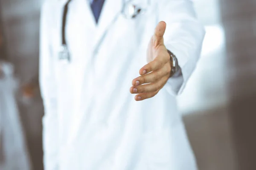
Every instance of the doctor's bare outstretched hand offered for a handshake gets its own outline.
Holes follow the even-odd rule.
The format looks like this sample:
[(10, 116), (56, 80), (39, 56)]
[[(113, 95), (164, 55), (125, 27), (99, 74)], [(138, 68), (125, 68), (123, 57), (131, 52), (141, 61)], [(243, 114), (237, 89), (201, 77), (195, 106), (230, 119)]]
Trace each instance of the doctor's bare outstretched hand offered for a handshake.
[(140, 77), (133, 79), (131, 94), (137, 94), (135, 100), (140, 101), (155, 96), (166, 84), (171, 75), (170, 55), (163, 43), (166, 23), (157, 24), (154, 35), (148, 44), (147, 61), (139, 73)]

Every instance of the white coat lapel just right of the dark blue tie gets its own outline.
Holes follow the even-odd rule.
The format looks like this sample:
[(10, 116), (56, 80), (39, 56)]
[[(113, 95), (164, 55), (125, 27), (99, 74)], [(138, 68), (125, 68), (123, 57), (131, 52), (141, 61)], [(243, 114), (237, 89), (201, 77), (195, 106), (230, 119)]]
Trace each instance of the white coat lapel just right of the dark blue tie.
[(124, 0), (105, 0), (103, 5), (97, 28), (96, 39), (94, 42), (95, 49), (98, 49), (103, 41), (105, 34), (107, 34), (109, 28), (117, 17), (121, 14)]

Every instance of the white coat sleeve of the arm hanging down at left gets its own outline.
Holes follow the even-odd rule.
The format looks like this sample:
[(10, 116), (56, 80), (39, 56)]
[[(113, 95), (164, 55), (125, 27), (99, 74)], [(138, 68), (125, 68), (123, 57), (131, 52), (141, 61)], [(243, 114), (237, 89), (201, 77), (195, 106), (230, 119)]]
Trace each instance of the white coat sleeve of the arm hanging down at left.
[(49, 3), (44, 3), (41, 10), (39, 59), (39, 81), (44, 102), (44, 117), (42, 120), (44, 169), (58, 170), (58, 116), (54, 62), (49, 40), (49, 26), (51, 23), (49, 14)]

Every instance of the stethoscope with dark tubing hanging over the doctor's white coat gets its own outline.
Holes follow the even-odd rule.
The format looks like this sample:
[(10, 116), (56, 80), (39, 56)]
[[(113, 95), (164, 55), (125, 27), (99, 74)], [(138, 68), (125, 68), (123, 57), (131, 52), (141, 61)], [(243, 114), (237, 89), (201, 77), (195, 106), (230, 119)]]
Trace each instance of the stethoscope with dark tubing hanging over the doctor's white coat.
[[(58, 59), (65, 63), (70, 63), (70, 53), (67, 48), (67, 41), (66, 41), (66, 22), (67, 22), (67, 12), (68, 12), (68, 5), (71, 0), (68, 0), (64, 6), (63, 10), (63, 17), (62, 17), (62, 26), (61, 26), (61, 49), (59, 51)], [(141, 8), (140, 6), (136, 6), (132, 3), (133, 0), (128, 0), (127, 2), (123, 0), (123, 8), (121, 14), (126, 19), (133, 19), (136, 18), (139, 14), (142, 14), (146, 11), (147, 6), (150, 5), (151, 0), (147, 0), (147, 6), (145, 8)]]

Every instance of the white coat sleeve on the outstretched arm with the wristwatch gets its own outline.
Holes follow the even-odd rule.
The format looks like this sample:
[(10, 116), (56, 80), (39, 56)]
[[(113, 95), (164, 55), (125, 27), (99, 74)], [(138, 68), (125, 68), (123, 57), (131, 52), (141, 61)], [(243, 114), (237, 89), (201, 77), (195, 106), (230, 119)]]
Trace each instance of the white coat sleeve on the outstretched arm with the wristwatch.
[(171, 77), (166, 88), (173, 95), (181, 94), (201, 54), (204, 27), (195, 16), (191, 0), (157, 0), (158, 21), (166, 22), (164, 44), (177, 57), (181, 75)]

